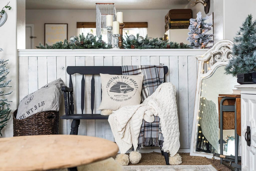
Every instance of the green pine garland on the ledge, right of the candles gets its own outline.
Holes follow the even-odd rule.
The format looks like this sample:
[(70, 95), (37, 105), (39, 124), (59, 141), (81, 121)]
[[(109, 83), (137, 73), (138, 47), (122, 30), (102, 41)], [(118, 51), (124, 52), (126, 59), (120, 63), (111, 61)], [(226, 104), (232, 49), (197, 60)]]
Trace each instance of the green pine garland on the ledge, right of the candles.
[(189, 45), (177, 42), (168, 42), (168, 40), (159, 40), (158, 38), (149, 39), (146, 35), (143, 40), (138, 41), (141, 36), (136, 35), (135, 39), (129, 39), (129, 36), (126, 33), (126, 36), (123, 38), (123, 48), (124, 49), (189, 49)]

